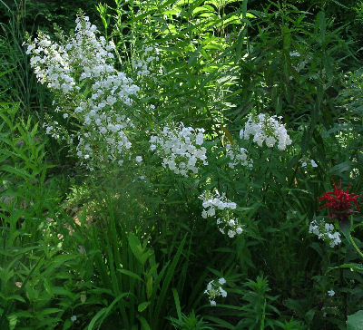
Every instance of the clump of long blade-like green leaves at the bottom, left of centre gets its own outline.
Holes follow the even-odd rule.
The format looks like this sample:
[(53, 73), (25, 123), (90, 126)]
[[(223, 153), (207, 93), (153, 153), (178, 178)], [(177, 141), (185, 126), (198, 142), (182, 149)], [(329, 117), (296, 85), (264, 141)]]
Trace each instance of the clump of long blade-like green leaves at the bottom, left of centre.
[(106, 297), (103, 308), (93, 315), (87, 328), (110, 326), (113, 322), (124, 329), (138, 325), (144, 329), (164, 328), (164, 317), (168, 315), (165, 306), (172, 298), (186, 237), (171, 259), (160, 265), (147, 238), (142, 242), (132, 232), (126, 232), (122, 219), (114, 216), (110, 199), (107, 206), (109, 214), (103, 226), (95, 224), (91, 237), (83, 240), (83, 247), (92, 256), (86, 266), (94, 274), (89, 292), (104, 293)]

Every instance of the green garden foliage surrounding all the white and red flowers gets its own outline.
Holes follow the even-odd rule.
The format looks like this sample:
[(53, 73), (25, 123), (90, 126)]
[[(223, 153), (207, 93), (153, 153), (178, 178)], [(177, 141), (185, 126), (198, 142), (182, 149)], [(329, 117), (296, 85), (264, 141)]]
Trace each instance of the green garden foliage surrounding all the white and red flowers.
[[(267, 112), (283, 116), (294, 149), (255, 150), (250, 171), (216, 158), (185, 180), (162, 170), (145, 140), (140, 169), (79, 168), (42, 130), (53, 95), (35, 81), (22, 46), (25, 31), (52, 32), (56, 23), (68, 32), (79, 7), (113, 38), (130, 76), (132, 58), (160, 48), (156, 79), (134, 78), (138, 104), (155, 105), (146, 123), (203, 127), (218, 154), (239, 141), (250, 111)], [(318, 199), (331, 179), (363, 188), (363, 3), (2, 1), (0, 10), (1, 71), (11, 70), (0, 77), (2, 328), (343, 329), (359, 316), (356, 249), (329, 248), (309, 235), (309, 221), (323, 214)], [(303, 169), (301, 158), (319, 167)], [(243, 238), (225, 238), (201, 218), (198, 196), (213, 188), (241, 207)], [(360, 221), (355, 214), (358, 248)], [(218, 277), (228, 298), (211, 308), (203, 291)], [(336, 296), (327, 295), (332, 287)]]

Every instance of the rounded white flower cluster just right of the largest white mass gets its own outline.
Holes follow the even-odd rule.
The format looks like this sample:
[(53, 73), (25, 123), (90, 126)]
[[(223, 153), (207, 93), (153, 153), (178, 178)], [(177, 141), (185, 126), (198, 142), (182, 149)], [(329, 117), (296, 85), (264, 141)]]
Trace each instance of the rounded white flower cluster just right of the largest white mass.
[(182, 122), (175, 127), (165, 126), (158, 135), (152, 135), (150, 150), (162, 155), (162, 167), (169, 167), (176, 174), (187, 177), (198, 173), (198, 164), (208, 165), (204, 142), (204, 129), (185, 127)]

